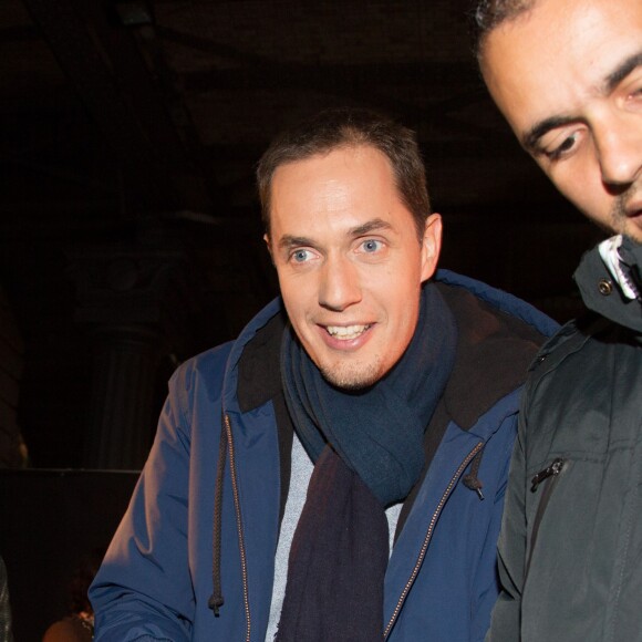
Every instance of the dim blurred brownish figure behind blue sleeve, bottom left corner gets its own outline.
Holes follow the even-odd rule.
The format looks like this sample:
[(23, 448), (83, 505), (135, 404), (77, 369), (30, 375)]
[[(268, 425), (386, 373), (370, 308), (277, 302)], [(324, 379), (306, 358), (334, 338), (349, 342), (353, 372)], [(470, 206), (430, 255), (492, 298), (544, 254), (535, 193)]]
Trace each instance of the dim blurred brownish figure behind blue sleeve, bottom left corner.
[(54, 622), (44, 633), (42, 642), (90, 642), (94, 636), (94, 611), (87, 589), (101, 566), (105, 549), (94, 549), (85, 555), (71, 577), (69, 584), (69, 615)]

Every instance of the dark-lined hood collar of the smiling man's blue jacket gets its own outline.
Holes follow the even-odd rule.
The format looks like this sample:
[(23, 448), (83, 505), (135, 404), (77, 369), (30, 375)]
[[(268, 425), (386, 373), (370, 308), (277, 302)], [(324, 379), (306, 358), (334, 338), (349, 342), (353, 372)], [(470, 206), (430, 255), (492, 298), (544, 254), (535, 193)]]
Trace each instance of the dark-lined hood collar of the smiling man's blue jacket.
[[(469, 429), (499, 398), (519, 386), (534, 352), (558, 325), (519, 299), (485, 283), (439, 270), (435, 279), (459, 330), (456, 364), (444, 393), (452, 420)], [(230, 354), (235, 407), (245, 413), (281, 397), (279, 353), (287, 318), (273, 301), (248, 324)], [(486, 384), (470, 390), (470, 381)], [(228, 381), (229, 383), (229, 381)], [(474, 390), (477, 390), (474, 389)]]

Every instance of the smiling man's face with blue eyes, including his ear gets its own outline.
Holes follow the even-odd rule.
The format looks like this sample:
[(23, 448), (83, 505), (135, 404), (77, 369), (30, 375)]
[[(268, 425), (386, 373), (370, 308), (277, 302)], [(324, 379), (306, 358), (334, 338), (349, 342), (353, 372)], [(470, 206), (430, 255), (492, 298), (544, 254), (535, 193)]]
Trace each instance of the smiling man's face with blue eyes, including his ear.
[(329, 382), (365, 387), (400, 360), (441, 232), (436, 214), (421, 231), (412, 225), (374, 147), (338, 148), (275, 172), (266, 240), (288, 318)]

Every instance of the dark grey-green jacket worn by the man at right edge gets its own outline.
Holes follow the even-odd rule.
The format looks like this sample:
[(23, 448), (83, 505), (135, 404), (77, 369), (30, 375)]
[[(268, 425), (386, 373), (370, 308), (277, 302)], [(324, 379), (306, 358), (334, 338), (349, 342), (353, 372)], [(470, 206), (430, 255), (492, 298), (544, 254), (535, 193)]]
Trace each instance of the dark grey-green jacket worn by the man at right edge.
[(591, 312), (545, 344), (522, 396), (487, 642), (642, 641), (642, 302), (597, 248), (576, 280)]

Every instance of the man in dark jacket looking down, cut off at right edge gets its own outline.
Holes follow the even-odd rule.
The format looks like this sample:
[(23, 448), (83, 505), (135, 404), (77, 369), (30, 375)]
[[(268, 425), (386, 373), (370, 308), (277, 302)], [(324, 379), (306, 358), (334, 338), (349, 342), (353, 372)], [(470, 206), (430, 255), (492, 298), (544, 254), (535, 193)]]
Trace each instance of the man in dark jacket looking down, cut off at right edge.
[(486, 0), (478, 60), (524, 148), (615, 236), (524, 396), (489, 639), (642, 640), (642, 2)]

